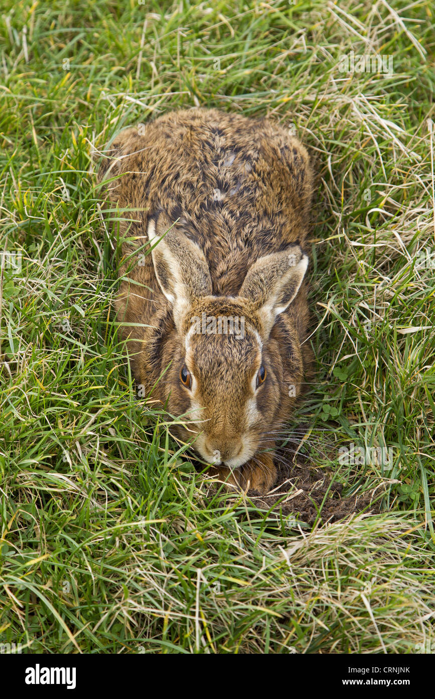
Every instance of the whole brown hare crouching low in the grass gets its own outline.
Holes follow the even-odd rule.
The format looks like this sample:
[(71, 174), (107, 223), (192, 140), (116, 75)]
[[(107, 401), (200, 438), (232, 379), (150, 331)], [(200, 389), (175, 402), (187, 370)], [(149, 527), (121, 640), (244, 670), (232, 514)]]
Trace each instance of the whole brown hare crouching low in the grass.
[(307, 151), (267, 120), (193, 108), (122, 131), (98, 180), (124, 210), (115, 309), (135, 381), (221, 477), (267, 492), (311, 366)]

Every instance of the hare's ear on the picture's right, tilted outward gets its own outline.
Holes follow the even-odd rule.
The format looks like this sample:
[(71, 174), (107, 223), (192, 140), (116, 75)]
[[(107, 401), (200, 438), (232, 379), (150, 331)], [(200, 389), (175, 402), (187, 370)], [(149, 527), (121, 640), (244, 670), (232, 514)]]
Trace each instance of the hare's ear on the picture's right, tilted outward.
[(307, 255), (299, 245), (292, 245), (282, 252), (260, 257), (246, 274), (239, 296), (258, 311), (264, 338), (269, 336), (277, 315), (295, 298), (307, 266)]

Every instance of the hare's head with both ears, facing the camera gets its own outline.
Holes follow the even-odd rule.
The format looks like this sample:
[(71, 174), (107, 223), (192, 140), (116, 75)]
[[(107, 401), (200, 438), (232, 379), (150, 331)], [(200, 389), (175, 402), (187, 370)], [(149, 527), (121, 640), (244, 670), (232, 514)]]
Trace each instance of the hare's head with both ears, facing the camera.
[(151, 217), (148, 238), (168, 301), (153, 345), (155, 363), (169, 365), (158, 393), (172, 415), (184, 416), (182, 437), (195, 438), (207, 463), (237, 468), (288, 417), (297, 396), (300, 340), (281, 314), (300, 289), (308, 257), (299, 245), (267, 254), (249, 268), (238, 296), (214, 296), (205, 255), (182, 224)]

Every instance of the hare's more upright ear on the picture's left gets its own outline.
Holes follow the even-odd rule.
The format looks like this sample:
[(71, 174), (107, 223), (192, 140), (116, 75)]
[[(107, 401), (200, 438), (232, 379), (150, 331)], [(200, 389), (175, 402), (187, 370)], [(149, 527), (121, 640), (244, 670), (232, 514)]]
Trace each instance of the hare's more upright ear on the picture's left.
[(161, 291), (173, 307), (175, 326), (181, 327), (189, 305), (212, 294), (212, 279), (205, 256), (165, 214), (149, 218), (154, 272)]

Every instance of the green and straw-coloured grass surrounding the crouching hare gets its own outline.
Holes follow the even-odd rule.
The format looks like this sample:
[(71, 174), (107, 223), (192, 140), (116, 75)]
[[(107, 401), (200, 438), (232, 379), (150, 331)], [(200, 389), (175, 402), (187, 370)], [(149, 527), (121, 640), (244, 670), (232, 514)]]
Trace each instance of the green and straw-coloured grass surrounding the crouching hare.
[[(433, 12), (3, 0), (0, 643), (434, 652)], [(361, 55), (382, 70), (352, 71)], [(295, 526), (212, 494), (135, 398), (95, 171), (121, 128), (198, 105), (287, 124), (313, 157), (317, 376), (297, 419), (316, 466), (344, 495), (376, 489), (377, 514)], [(391, 459), (341, 463), (352, 444)]]

